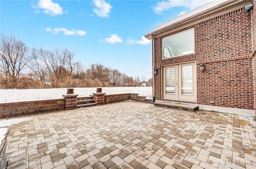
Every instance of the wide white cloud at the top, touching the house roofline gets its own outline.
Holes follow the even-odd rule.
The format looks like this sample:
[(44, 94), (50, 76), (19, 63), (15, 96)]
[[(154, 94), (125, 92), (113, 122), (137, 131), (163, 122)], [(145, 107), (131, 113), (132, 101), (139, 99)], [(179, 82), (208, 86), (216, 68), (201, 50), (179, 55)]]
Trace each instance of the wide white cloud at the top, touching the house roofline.
[(170, 10), (174, 7), (185, 7), (190, 10), (194, 10), (212, 1), (213, 0), (166, 0), (157, 2), (152, 9), (156, 14), (163, 14), (164, 11)]

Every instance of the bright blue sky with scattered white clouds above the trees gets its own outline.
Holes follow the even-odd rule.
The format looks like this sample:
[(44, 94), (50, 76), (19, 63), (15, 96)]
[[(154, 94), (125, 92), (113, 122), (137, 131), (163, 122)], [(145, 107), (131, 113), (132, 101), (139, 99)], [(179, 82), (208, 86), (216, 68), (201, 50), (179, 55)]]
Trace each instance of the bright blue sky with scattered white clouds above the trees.
[(160, 24), (212, 0), (0, 0), (0, 32), (28, 47), (64, 49), (132, 77), (152, 77), (152, 42)]

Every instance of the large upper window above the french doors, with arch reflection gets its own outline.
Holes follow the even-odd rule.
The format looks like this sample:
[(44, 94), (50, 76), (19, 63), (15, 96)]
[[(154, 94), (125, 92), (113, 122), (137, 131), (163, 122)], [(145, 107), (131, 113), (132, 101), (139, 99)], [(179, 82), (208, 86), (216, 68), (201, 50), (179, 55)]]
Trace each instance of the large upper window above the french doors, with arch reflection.
[(163, 59), (194, 53), (194, 29), (166, 37), (162, 44)]

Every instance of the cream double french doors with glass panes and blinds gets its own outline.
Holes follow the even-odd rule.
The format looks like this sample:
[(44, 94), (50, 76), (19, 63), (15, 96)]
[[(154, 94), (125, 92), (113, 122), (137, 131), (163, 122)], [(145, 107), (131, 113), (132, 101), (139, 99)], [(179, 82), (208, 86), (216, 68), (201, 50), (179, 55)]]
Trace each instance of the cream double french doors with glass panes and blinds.
[(163, 98), (196, 101), (196, 63), (163, 67)]

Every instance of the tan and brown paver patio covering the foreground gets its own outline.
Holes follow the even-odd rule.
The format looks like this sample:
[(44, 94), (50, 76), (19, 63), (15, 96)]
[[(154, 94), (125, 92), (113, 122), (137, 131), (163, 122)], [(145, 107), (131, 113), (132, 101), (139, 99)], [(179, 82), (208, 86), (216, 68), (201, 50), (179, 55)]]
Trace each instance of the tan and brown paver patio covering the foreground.
[(255, 169), (245, 116), (120, 102), (10, 127), (8, 169)]

